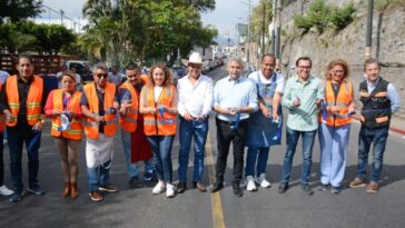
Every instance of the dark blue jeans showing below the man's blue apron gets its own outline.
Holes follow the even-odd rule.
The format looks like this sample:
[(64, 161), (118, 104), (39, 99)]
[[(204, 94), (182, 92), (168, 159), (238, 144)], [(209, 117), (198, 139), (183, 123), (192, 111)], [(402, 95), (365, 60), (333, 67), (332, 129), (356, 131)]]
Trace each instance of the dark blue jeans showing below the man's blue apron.
[(245, 168), (246, 176), (255, 176), (256, 160), (256, 176), (259, 177), (261, 174), (266, 174), (269, 151), (269, 147), (249, 147), (247, 149)]

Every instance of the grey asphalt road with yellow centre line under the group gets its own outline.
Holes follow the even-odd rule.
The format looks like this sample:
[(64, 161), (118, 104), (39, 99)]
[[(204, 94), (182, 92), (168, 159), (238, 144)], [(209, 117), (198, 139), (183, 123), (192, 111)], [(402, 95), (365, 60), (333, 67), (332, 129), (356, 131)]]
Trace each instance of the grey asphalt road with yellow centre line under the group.
[[(209, 75), (214, 79), (225, 76), (224, 68)], [(401, 127), (401, 126), (396, 126)], [(403, 126), (404, 127), (404, 126)], [(213, 181), (213, 163), (216, 160), (216, 127), (210, 119), (207, 143), (205, 182)], [(346, 184), (354, 178), (357, 165), (357, 136), (359, 125), (353, 123), (349, 143)], [(294, 160), (290, 189), (277, 194), (285, 152), (285, 136), (281, 146), (274, 147), (267, 166), (267, 176), (273, 186), (256, 192), (234, 196), (231, 181), (231, 153), (226, 171), (226, 187), (220, 194), (198, 192), (189, 189), (176, 198), (152, 196), (151, 188), (130, 189), (127, 184), (124, 151), (120, 137), (116, 137), (111, 182), (119, 187), (118, 194), (106, 195), (102, 202), (88, 197), (88, 178), (85, 152), (80, 156), (79, 190), (76, 200), (61, 197), (63, 186), (59, 155), (49, 136), (49, 123), (42, 135), (40, 149), (40, 185), (48, 191), (45, 196), (27, 195), (22, 201), (11, 204), (0, 197), (0, 228), (13, 227), (139, 227), (139, 228), (205, 228), (205, 227), (405, 227), (405, 138), (391, 133), (387, 142), (382, 188), (378, 194), (367, 194), (364, 188), (343, 189), (340, 195), (315, 190), (306, 196), (299, 187), (302, 153), (299, 147)], [(83, 146), (83, 143), (82, 143)], [(174, 178), (177, 180), (178, 138), (172, 148)], [(9, 156), (4, 151), (6, 184), (10, 187)], [(211, 156), (213, 155), (213, 156)], [(192, 156), (190, 156), (192, 159)], [(27, 180), (26, 156), (23, 179)], [(213, 162), (214, 161), (214, 162)], [(312, 186), (319, 185), (319, 147), (316, 142), (313, 155)], [(192, 162), (189, 163), (192, 167)], [(189, 187), (191, 169), (189, 169)]]

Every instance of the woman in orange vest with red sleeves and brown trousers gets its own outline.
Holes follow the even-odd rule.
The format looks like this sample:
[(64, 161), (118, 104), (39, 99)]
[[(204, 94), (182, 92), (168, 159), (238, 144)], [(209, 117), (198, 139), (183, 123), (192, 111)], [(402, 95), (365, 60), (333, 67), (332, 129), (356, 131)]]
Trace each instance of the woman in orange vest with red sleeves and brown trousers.
[(76, 75), (62, 72), (61, 89), (52, 90), (45, 112), (52, 118), (51, 136), (62, 158), (65, 188), (62, 196), (75, 199), (78, 196), (78, 157), (81, 145), (81, 92), (76, 90)]

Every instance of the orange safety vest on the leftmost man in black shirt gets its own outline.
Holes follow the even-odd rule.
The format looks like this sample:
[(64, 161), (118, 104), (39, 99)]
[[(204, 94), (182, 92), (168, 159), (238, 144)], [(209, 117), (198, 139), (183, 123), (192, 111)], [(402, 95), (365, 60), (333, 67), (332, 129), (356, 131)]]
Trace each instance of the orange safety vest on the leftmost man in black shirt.
[[(18, 93), (17, 79), (18, 76), (11, 76), (6, 81), (7, 101), (10, 107), (10, 112), (14, 117), (18, 117), (18, 112), (20, 111), (20, 98)], [(39, 76), (33, 76), (27, 97), (27, 120), (28, 125), (30, 126), (36, 125), (37, 121), (41, 119), (42, 93), (43, 93), (43, 80)], [(17, 126), (17, 120), (13, 122), (7, 122), (7, 126), (9, 127)]]

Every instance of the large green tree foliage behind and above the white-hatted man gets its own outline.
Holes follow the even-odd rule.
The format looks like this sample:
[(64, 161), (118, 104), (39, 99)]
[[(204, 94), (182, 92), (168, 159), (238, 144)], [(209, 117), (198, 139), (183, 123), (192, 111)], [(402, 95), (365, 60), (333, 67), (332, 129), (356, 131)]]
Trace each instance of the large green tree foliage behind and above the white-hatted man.
[(89, 0), (83, 14), (90, 23), (79, 43), (113, 65), (167, 56), (172, 62), (177, 49), (186, 56), (194, 44), (211, 43), (217, 31), (202, 27), (199, 13), (214, 7), (214, 0)]

